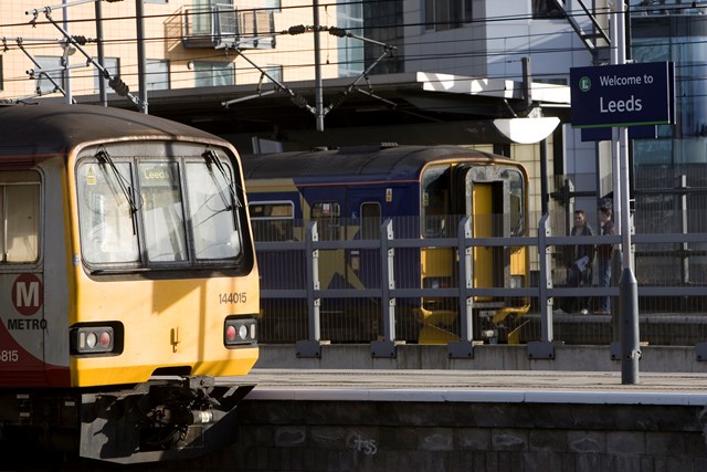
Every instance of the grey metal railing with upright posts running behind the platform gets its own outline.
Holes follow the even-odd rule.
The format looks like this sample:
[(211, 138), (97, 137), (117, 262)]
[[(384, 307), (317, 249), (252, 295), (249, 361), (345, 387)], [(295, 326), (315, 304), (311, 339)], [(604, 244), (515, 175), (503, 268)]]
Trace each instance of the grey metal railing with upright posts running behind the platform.
[[(345, 221), (334, 227), (329, 223), (328, 233), (321, 239), (315, 223), (302, 228), (300, 234), (295, 234), (291, 228), (288, 238), (298, 240), (268, 241), (270, 238), (261, 233), (256, 242), (265, 307), (261, 340), (295, 342), (303, 357), (318, 356), (319, 346), (326, 342), (370, 342), (374, 357), (390, 357), (394, 356), (395, 344), (410, 339), (405, 332), (418, 323), (410, 306), (419, 304), (421, 298), (433, 297), (443, 304), (443, 312), (452, 313), (452, 319), (444, 327), (454, 337), (446, 342), (450, 356), (468, 357), (474, 346), (483, 342), (479, 317), (484, 306), (477, 301), (497, 297), (531, 301), (528, 313), (511, 321), (518, 328), (519, 342), (528, 345), (532, 358), (552, 358), (556, 342), (615, 343), (620, 329), (616, 301), (620, 289), (615, 281), (621, 273), (621, 259), (614, 256), (612, 286), (599, 287), (594, 282), (591, 286), (566, 287), (562, 286), (567, 270), (563, 249), (574, 244), (620, 245), (621, 237), (552, 235), (548, 221), (547, 217), (540, 219), (535, 235), (507, 238), (472, 238), (468, 219), (460, 222), (455, 235), (444, 238), (420, 238), (419, 231), (410, 229), (419, 228), (419, 220), (414, 219), (408, 224), (387, 220), (380, 231), (369, 231), (362, 238), (359, 233), (358, 239), (342, 237), (346, 231), (341, 228), (349, 227)], [(360, 225), (360, 221), (350, 225), (354, 224)], [(293, 227), (297, 228), (297, 224)], [(393, 231), (393, 228), (399, 230)], [(331, 237), (334, 231), (338, 237)], [(704, 250), (707, 234), (634, 234), (633, 242), (641, 340), (655, 345), (696, 346), (698, 357), (707, 358), (704, 344), (707, 338), (707, 253)], [(526, 286), (473, 286), (474, 248), (509, 250), (521, 247), (528, 248), (530, 254), (531, 276)], [(454, 249), (457, 256), (451, 284), (421, 287), (420, 279), (415, 283), (415, 277), (409, 276), (415, 271), (419, 273), (419, 269), (405, 266), (412, 259), (402, 254), (422, 248)], [(659, 248), (659, 251), (650, 248)], [(354, 265), (370, 273), (349, 274), (348, 279), (346, 274), (337, 275), (331, 269), (331, 259), (347, 263), (367, 260), (367, 266), (362, 263)], [(351, 268), (347, 270), (351, 271)], [(685, 276), (686, 272), (688, 276)], [(347, 280), (337, 282), (337, 276)], [(363, 284), (362, 280), (373, 282)], [(595, 301), (601, 296), (612, 297), (612, 313), (553, 314), (559, 298), (591, 297)], [(275, 332), (268, 326), (268, 310), (273, 306), (284, 313), (279, 323), (291, 324), (284, 337), (282, 325), (279, 337), (274, 336)], [(365, 333), (363, 339), (361, 333)], [(486, 343), (494, 340), (493, 337), (485, 339)]]

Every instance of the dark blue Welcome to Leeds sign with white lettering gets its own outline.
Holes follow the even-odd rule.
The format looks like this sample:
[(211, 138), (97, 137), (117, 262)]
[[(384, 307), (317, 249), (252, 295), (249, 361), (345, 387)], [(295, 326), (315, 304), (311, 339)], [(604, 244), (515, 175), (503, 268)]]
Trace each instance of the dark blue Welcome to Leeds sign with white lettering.
[(667, 125), (675, 107), (672, 62), (570, 69), (572, 126)]

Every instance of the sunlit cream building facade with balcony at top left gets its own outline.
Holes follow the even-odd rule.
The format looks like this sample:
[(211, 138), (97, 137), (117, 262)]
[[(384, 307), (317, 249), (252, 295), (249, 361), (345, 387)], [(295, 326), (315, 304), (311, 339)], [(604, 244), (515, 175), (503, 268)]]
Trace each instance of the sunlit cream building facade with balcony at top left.
[[(3, 4), (2, 99), (65, 95), (68, 101), (98, 94), (99, 77), (106, 73), (95, 63), (119, 77), (131, 94), (140, 86), (140, 73), (149, 92), (314, 77), (313, 35), (283, 34), (291, 27), (312, 24), (312, 3), (105, 0), (42, 4), (32, 0)], [(334, 8), (320, 9), (323, 20), (336, 14)], [(65, 33), (78, 43), (72, 44)], [(323, 42), (324, 77), (339, 74), (339, 45), (335, 38)], [(116, 93), (108, 78), (105, 83), (108, 93)]]

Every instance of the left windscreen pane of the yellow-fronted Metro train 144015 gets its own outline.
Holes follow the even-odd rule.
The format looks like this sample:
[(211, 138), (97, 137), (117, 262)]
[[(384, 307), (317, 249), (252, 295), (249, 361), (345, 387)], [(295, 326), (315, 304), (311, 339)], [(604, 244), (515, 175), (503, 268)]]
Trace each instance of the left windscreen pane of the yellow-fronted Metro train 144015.
[(88, 263), (139, 261), (133, 202), (125, 193), (133, 187), (130, 169), (129, 162), (115, 162), (113, 168), (96, 160), (76, 169), (81, 248)]

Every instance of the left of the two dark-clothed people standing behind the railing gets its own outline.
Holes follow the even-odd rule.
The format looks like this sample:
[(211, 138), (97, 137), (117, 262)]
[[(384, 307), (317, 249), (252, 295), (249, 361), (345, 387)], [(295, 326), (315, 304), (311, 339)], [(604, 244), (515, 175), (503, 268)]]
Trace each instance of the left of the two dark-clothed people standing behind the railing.
[[(583, 210), (574, 211), (574, 225), (570, 232), (573, 237), (594, 235), (592, 227), (587, 222)], [(574, 244), (571, 247), (569, 263), (569, 272), (567, 275), (568, 287), (591, 286), (592, 284), (592, 264), (594, 263), (594, 245), (593, 244)], [(591, 297), (579, 297), (580, 313), (588, 315), (591, 304)], [(563, 303), (555, 314), (572, 313), (574, 298)]]

